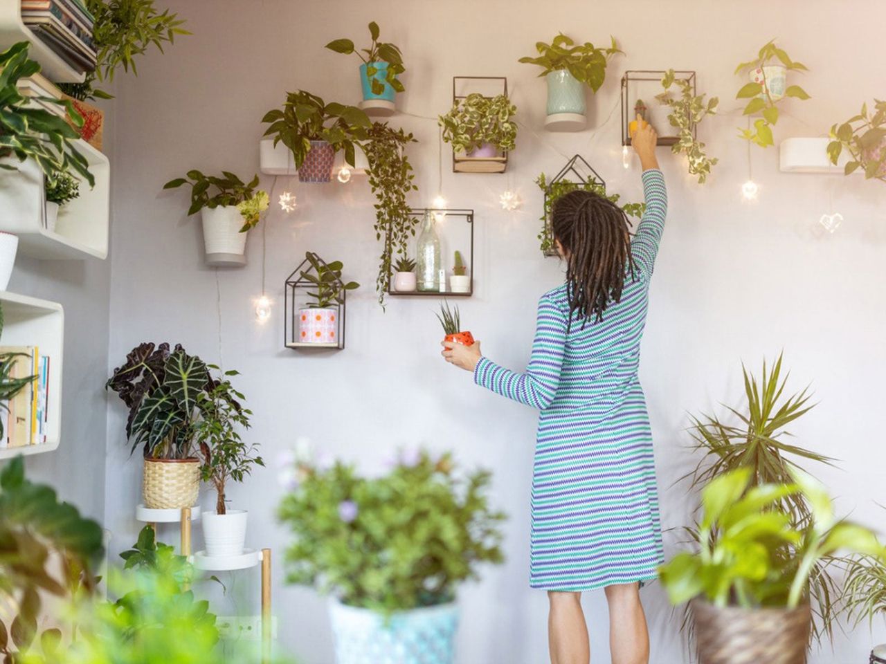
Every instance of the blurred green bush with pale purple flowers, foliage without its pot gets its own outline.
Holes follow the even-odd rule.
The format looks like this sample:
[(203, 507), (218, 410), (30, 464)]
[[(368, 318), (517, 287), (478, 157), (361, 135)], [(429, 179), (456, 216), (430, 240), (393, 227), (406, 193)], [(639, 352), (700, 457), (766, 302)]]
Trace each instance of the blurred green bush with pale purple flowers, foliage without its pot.
[(479, 563), (504, 560), (505, 515), (486, 499), (491, 475), (457, 474), (448, 453), (404, 453), (373, 478), (340, 461), (299, 460), (294, 470), (279, 509), (295, 536), (286, 551), (290, 583), (390, 614), (451, 601)]

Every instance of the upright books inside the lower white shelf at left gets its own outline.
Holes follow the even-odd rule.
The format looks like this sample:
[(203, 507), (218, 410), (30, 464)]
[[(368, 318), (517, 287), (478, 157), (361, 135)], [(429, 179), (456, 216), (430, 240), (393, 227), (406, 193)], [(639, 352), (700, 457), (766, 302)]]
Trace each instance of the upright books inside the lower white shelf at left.
[(4, 404), (5, 408), (0, 408), (0, 416), (5, 419), (0, 449), (43, 444), (48, 426), (50, 358), (41, 355), (37, 346), (0, 346), (0, 354), (16, 355), (10, 378), (35, 376)]

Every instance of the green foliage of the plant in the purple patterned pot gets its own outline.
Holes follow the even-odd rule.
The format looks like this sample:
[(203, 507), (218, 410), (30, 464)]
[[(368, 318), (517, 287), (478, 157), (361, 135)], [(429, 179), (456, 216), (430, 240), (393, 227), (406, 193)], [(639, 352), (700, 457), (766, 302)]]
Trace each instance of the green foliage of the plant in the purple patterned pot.
[(311, 151), (311, 141), (330, 143), (354, 166), (356, 142), (365, 140), (372, 126), (369, 116), (356, 106), (326, 104), (305, 90), (287, 93), (283, 108), (268, 111), (261, 121), (269, 125), (264, 135), (274, 136), (274, 145), (283, 143), (291, 150), (296, 168)]

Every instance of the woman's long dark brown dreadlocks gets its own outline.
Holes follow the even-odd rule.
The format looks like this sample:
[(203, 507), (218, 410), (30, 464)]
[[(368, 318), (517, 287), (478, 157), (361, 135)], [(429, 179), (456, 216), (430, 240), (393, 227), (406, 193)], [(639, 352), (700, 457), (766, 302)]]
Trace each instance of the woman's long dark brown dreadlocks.
[(558, 198), (551, 231), (563, 245), (569, 320), (578, 312), (585, 322), (602, 320), (610, 302), (618, 302), (626, 273), (634, 277), (630, 225), (625, 212), (593, 191), (571, 191)]

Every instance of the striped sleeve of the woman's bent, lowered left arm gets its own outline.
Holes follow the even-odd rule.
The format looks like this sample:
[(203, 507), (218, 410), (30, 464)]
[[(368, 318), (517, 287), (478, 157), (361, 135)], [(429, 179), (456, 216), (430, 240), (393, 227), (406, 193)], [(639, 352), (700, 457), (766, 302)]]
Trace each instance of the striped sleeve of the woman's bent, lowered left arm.
[(554, 400), (560, 384), (566, 345), (566, 316), (548, 296), (539, 300), (532, 357), (525, 374), (517, 374), (480, 358), (474, 368), (474, 382), (502, 397), (544, 410)]

